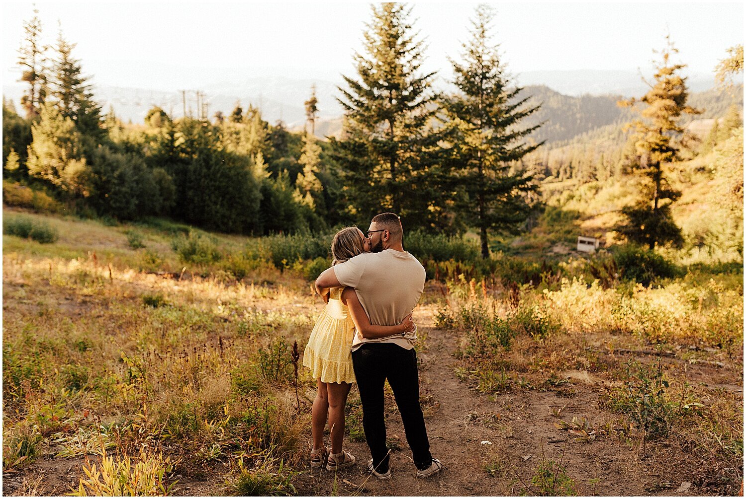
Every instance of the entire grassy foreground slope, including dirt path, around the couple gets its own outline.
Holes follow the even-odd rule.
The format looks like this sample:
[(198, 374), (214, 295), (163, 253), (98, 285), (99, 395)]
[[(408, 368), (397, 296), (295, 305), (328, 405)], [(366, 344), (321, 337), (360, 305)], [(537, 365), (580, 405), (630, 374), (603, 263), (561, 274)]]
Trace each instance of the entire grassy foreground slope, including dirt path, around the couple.
[[(476, 261), (442, 262), (415, 320), (421, 400), (449, 471), (409, 476), (387, 391), (397, 478), (372, 483), (363, 466), (339, 477), (307, 466), (315, 381), (294, 362), (323, 306), (308, 279), (325, 258), (275, 265), (272, 252), (301, 253), (287, 249), (295, 239), (164, 220), (4, 210), (6, 226), (18, 217), (57, 240), (3, 236), (4, 493), (121, 494), (118, 476), (145, 495), (442, 495), (442, 483), (460, 495), (557, 494), (542, 470), (560, 459), (561, 490), (581, 495), (665, 491), (682, 473), (696, 493), (733, 494), (742, 479), (741, 267), (693, 266), (644, 287), (608, 273), (586, 284), (603, 259), (498, 256), (474, 280)], [(536, 412), (554, 400), (554, 416)], [(499, 425), (480, 416), (495, 407)], [(347, 411), (345, 445), (364, 463), (355, 391)], [(547, 435), (568, 443), (544, 448)], [(639, 479), (614, 465), (589, 483), (601, 451)], [(94, 464), (101, 474), (88, 476)]]

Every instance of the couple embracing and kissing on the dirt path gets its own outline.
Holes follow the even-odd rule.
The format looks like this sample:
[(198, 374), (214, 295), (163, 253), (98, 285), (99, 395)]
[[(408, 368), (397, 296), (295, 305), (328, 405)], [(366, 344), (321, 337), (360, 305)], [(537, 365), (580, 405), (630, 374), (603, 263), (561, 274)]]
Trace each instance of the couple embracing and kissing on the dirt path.
[[(334, 471), (355, 464), (355, 457), (342, 450), (342, 439), (345, 402), (351, 384), (357, 382), (371, 452), (368, 470), (381, 480), (391, 477), (383, 420), (383, 384), (388, 380), (417, 477), (429, 477), (443, 465), (430, 454), (419, 403), (412, 311), (424, 289), (424, 268), (404, 251), (395, 214), (373, 217), (367, 236), (357, 227), (337, 232), (331, 244), (332, 267), (316, 279), (316, 291), (327, 305), (303, 360), (319, 387), (311, 411), (311, 467)], [(331, 448), (324, 443), (327, 419)]]

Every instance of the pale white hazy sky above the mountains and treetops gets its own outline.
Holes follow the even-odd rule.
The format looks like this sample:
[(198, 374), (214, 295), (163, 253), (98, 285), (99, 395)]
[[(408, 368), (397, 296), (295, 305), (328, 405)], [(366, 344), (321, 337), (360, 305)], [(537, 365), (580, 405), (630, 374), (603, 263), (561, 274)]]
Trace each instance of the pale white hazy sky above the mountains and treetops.
[[(185, 83), (164, 65), (254, 69), (264, 74), (338, 80), (353, 74), (369, 4), (211, 3), (198, 1), (37, 1), (44, 38), (57, 21), (94, 83), (172, 90)], [(513, 73), (558, 69), (649, 67), (666, 28), (689, 71), (711, 72), (726, 49), (743, 42), (742, 3), (497, 3), (495, 41)], [(425, 69), (451, 74), (468, 38), (475, 4), (413, 2), (415, 28), (426, 37)], [(17, 49), (30, 1), (2, 2), (3, 83), (19, 77)], [(163, 69), (159, 67), (163, 66)], [(171, 73), (175, 74), (175, 73)], [(170, 78), (170, 79), (169, 79)], [(172, 82), (170, 88), (163, 85)]]

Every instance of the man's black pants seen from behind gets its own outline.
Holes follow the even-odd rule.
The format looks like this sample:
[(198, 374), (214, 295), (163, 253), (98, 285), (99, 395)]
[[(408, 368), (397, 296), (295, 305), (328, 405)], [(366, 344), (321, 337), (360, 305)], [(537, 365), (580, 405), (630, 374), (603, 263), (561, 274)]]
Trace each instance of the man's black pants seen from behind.
[(404, 422), (404, 433), (419, 469), (433, 463), (430, 442), (419, 404), (417, 355), (393, 343), (368, 343), (352, 352), (352, 366), (363, 402), (363, 430), (379, 472), (389, 469), (386, 450), (386, 424), (383, 422), (383, 382), (388, 379)]

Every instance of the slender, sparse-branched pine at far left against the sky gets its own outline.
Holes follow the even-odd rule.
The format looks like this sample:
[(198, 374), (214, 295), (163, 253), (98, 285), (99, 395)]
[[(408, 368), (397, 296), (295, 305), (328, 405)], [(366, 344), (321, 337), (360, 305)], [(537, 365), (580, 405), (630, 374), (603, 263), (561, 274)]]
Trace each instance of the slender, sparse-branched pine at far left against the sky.
[(39, 10), (34, 9), (31, 21), (23, 23), (23, 31), (23, 45), (18, 51), (18, 64), (22, 71), (19, 81), (28, 83), (29, 89), (21, 98), (21, 105), (26, 111), (26, 118), (37, 118), (47, 93), (46, 46), (41, 42)]

